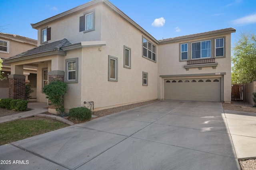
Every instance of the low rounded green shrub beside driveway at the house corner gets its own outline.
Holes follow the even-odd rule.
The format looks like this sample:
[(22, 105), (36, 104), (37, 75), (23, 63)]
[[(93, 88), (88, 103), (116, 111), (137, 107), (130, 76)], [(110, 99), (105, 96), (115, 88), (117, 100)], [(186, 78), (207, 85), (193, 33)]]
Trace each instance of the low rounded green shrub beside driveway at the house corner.
[(77, 120), (89, 120), (92, 117), (92, 111), (87, 107), (76, 107), (69, 110), (69, 117)]

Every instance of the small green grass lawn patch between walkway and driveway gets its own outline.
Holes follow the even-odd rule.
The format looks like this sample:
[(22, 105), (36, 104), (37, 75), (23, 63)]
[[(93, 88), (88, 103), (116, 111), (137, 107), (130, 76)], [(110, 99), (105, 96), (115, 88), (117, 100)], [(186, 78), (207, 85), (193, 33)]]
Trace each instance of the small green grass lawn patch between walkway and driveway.
[(12, 143), (42, 133), (54, 131), (69, 125), (41, 117), (30, 117), (0, 123), (0, 145)]

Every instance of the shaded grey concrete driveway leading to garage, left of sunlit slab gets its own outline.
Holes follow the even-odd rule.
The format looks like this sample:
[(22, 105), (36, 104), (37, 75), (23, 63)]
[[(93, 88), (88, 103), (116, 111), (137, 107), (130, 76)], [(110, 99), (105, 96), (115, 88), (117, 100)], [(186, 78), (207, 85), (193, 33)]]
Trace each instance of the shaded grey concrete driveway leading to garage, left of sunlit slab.
[(2, 145), (0, 160), (1, 170), (240, 169), (222, 104), (173, 100)]

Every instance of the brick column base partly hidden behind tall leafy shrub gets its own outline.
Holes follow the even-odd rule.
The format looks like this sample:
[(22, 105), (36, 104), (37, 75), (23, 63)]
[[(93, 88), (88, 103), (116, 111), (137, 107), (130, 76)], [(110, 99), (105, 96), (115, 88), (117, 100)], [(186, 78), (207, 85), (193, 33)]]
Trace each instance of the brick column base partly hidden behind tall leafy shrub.
[[(50, 72), (48, 72), (48, 81), (49, 81), (49, 83), (57, 81), (57, 80), (64, 82), (64, 76), (65, 76), (64, 71), (60, 71), (60, 70), (50, 71)], [(48, 103), (50, 103), (50, 100), (48, 100)], [(48, 105), (48, 112), (57, 114), (56, 107), (53, 105)]]

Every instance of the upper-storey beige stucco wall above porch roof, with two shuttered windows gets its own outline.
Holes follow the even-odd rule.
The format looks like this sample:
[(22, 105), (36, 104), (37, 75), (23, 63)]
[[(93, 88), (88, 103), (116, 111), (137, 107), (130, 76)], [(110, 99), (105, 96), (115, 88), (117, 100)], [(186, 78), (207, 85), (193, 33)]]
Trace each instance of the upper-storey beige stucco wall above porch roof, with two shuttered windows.
[[(95, 10), (95, 30), (88, 33), (79, 32), (79, 18), (84, 12)], [(51, 40), (48, 43), (61, 39), (68, 39), (72, 44), (81, 41), (99, 41), (101, 39), (101, 5), (90, 6), (86, 9), (79, 10), (73, 14), (54, 20), (53, 22), (42, 25), (38, 28), (38, 45), (41, 41), (41, 29), (48, 26), (51, 27)]]

